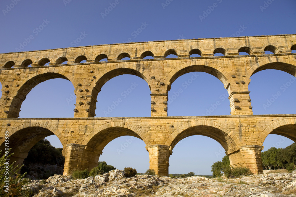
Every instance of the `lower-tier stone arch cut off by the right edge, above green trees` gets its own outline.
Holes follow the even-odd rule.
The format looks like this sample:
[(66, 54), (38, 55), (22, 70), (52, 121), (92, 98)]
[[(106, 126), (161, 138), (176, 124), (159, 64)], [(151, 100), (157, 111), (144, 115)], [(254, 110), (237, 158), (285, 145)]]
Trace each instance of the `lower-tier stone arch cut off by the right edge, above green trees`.
[(256, 145), (262, 146), (269, 134), (281, 135), (296, 142), (296, 119), (288, 118), (271, 123), (260, 133)]

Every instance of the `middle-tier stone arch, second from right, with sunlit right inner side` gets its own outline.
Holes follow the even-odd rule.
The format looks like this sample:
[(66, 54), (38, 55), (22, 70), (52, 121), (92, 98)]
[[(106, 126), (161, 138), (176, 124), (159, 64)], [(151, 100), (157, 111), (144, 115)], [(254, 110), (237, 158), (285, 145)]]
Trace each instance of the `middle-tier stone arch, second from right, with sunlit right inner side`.
[(181, 75), (189, 73), (189, 72), (206, 72), (217, 77), (223, 84), (224, 88), (228, 90), (228, 93), (231, 91), (235, 91), (232, 87), (236, 87), (234, 80), (231, 78), (231, 75), (221, 70), (221, 66), (219, 67), (217, 64), (213, 64), (211, 62), (206, 61), (197, 61), (192, 60), (186, 63), (181, 64), (180, 66), (173, 69), (168, 76), (165, 78), (165, 84), (168, 84), (168, 90), (170, 90), (171, 84)]

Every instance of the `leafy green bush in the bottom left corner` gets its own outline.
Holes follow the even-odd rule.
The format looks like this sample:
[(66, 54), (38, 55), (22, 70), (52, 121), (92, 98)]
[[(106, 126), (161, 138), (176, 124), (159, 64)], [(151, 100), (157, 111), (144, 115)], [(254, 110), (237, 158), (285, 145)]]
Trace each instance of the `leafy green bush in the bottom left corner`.
[[(21, 167), (18, 167), (18, 165), (14, 166), (15, 162), (10, 165), (6, 163), (9, 161), (7, 158), (13, 154), (9, 154), (9, 151), (10, 149), (0, 158), (0, 196), (21, 196), (25, 192), (22, 187), (28, 183), (28, 179), (24, 178), (25, 174), (17, 173)], [(7, 180), (8, 183), (6, 183)], [(8, 186), (8, 188), (5, 186)]]

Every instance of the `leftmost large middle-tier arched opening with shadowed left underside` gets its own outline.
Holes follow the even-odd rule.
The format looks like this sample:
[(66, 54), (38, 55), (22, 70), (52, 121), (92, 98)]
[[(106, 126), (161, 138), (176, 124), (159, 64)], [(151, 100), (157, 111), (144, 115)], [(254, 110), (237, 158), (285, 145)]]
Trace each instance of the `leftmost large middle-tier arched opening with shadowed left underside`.
[[(40, 86), (32, 94), (27, 97), (28, 93), (33, 89), (33, 87), (36, 87), (41, 82), (45, 82), (49, 79), (67, 79), (66, 76), (59, 74), (59, 73), (44, 73), (39, 74), (37, 76), (32, 77), (31, 79), (28, 79), (24, 84), (21, 85), (20, 89), (18, 90), (17, 94), (13, 97), (11, 101), (11, 105), (9, 108), (9, 112), (7, 114), (7, 118), (17, 118), (20, 112), (20, 107), (22, 105), (22, 102), (26, 98), (28, 99), (28, 105), (27, 107), (24, 107), (24, 111), (27, 111), (27, 113), (21, 113), (22, 117), (50, 117), (51, 115), (54, 115), (56, 117), (61, 117), (61, 115), (65, 117), (73, 117), (73, 105), (76, 102), (76, 96), (73, 93), (73, 84), (71, 82), (64, 83), (62, 80), (53, 80), (49, 81)], [(53, 83), (52, 83), (53, 82)], [(58, 90), (58, 91), (56, 91)], [(42, 92), (42, 94), (40, 93)], [(52, 96), (55, 95), (55, 100)], [(38, 97), (38, 99), (36, 99)], [(67, 100), (68, 99), (68, 100)], [(70, 100), (70, 101), (69, 101)], [(31, 102), (31, 106), (29, 105)], [(46, 107), (48, 104), (51, 103), (53, 106), (59, 106), (59, 108), (49, 108)], [(68, 104), (69, 103), (69, 104)], [(36, 105), (39, 105), (39, 109), (36, 107)], [(33, 112), (32, 105), (35, 106), (33, 109), (35, 110)], [(72, 107), (71, 107), (72, 105)], [(43, 107), (41, 107), (43, 106)], [(68, 110), (65, 110), (66, 108), (71, 108), (72, 116), (70, 116), (68, 113)], [(42, 111), (43, 110), (43, 111)], [(37, 113), (38, 112), (38, 113)], [(44, 113), (46, 112), (46, 113)], [(50, 112), (50, 113), (47, 113)], [(57, 113), (58, 112), (58, 113)]]

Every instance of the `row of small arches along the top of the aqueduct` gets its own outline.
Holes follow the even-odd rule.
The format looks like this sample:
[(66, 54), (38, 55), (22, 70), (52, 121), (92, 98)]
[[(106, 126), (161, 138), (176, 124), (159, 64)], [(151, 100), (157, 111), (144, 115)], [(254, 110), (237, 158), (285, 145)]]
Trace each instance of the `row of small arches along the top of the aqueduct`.
[[(296, 50), (296, 44), (292, 45), (290, 50), (292, 53)], [(265, 45), (260, 50), (258, 48), (252, 48), (251, 46), (239, 46), (236, 49), (225, 49), (222, 47), (217, 47), (213, 51), (200, 50), (198, 48), (194, 48), (191, 50), (176, 50), (176, 49), (168, 49), (166, 50), (162, 56), (155, 56), (153, 53), (154, 50), (146, 50), (141, 55), (137, 55), (137, 49), (134, 56), (130, 53), (131, 51), (126, 51), (123, 53), (119, 53), (117, 58), (108, 58), (108, 54), (101, 53), (97, 56), (87, 55), (84, 52), (83, 55), (75, 57), (70, 56), (60, 56), (58, 58), (50, 58), (44, 57), (41, 59), (33, 59), (26, 58), (23, 61), (19, 62), (20, 65), (16, 65), (14, 60), (6, 61), (4, 65), (0, 65), (0, 68), (12, 68), (12, 67), (28, 67), (28, 66), (48, 66), (48, 65), (61, 65), (61, 64), (79, 64), (86, 62), (108, 62), (108, 61), (126, 61), (126, 60), (139, 60), (139, 59), (157, 59), (157, 58), (196, 58), (196, 57), (210, 57), (210, 56), (234, 56), (234, 55), (264, 55), (264, 54), (278, 54), (278, 53), (291, 53), (289, 50), (282, 50), (276, 45)], [(72, 61), (68, 61), (68, 60)]]

